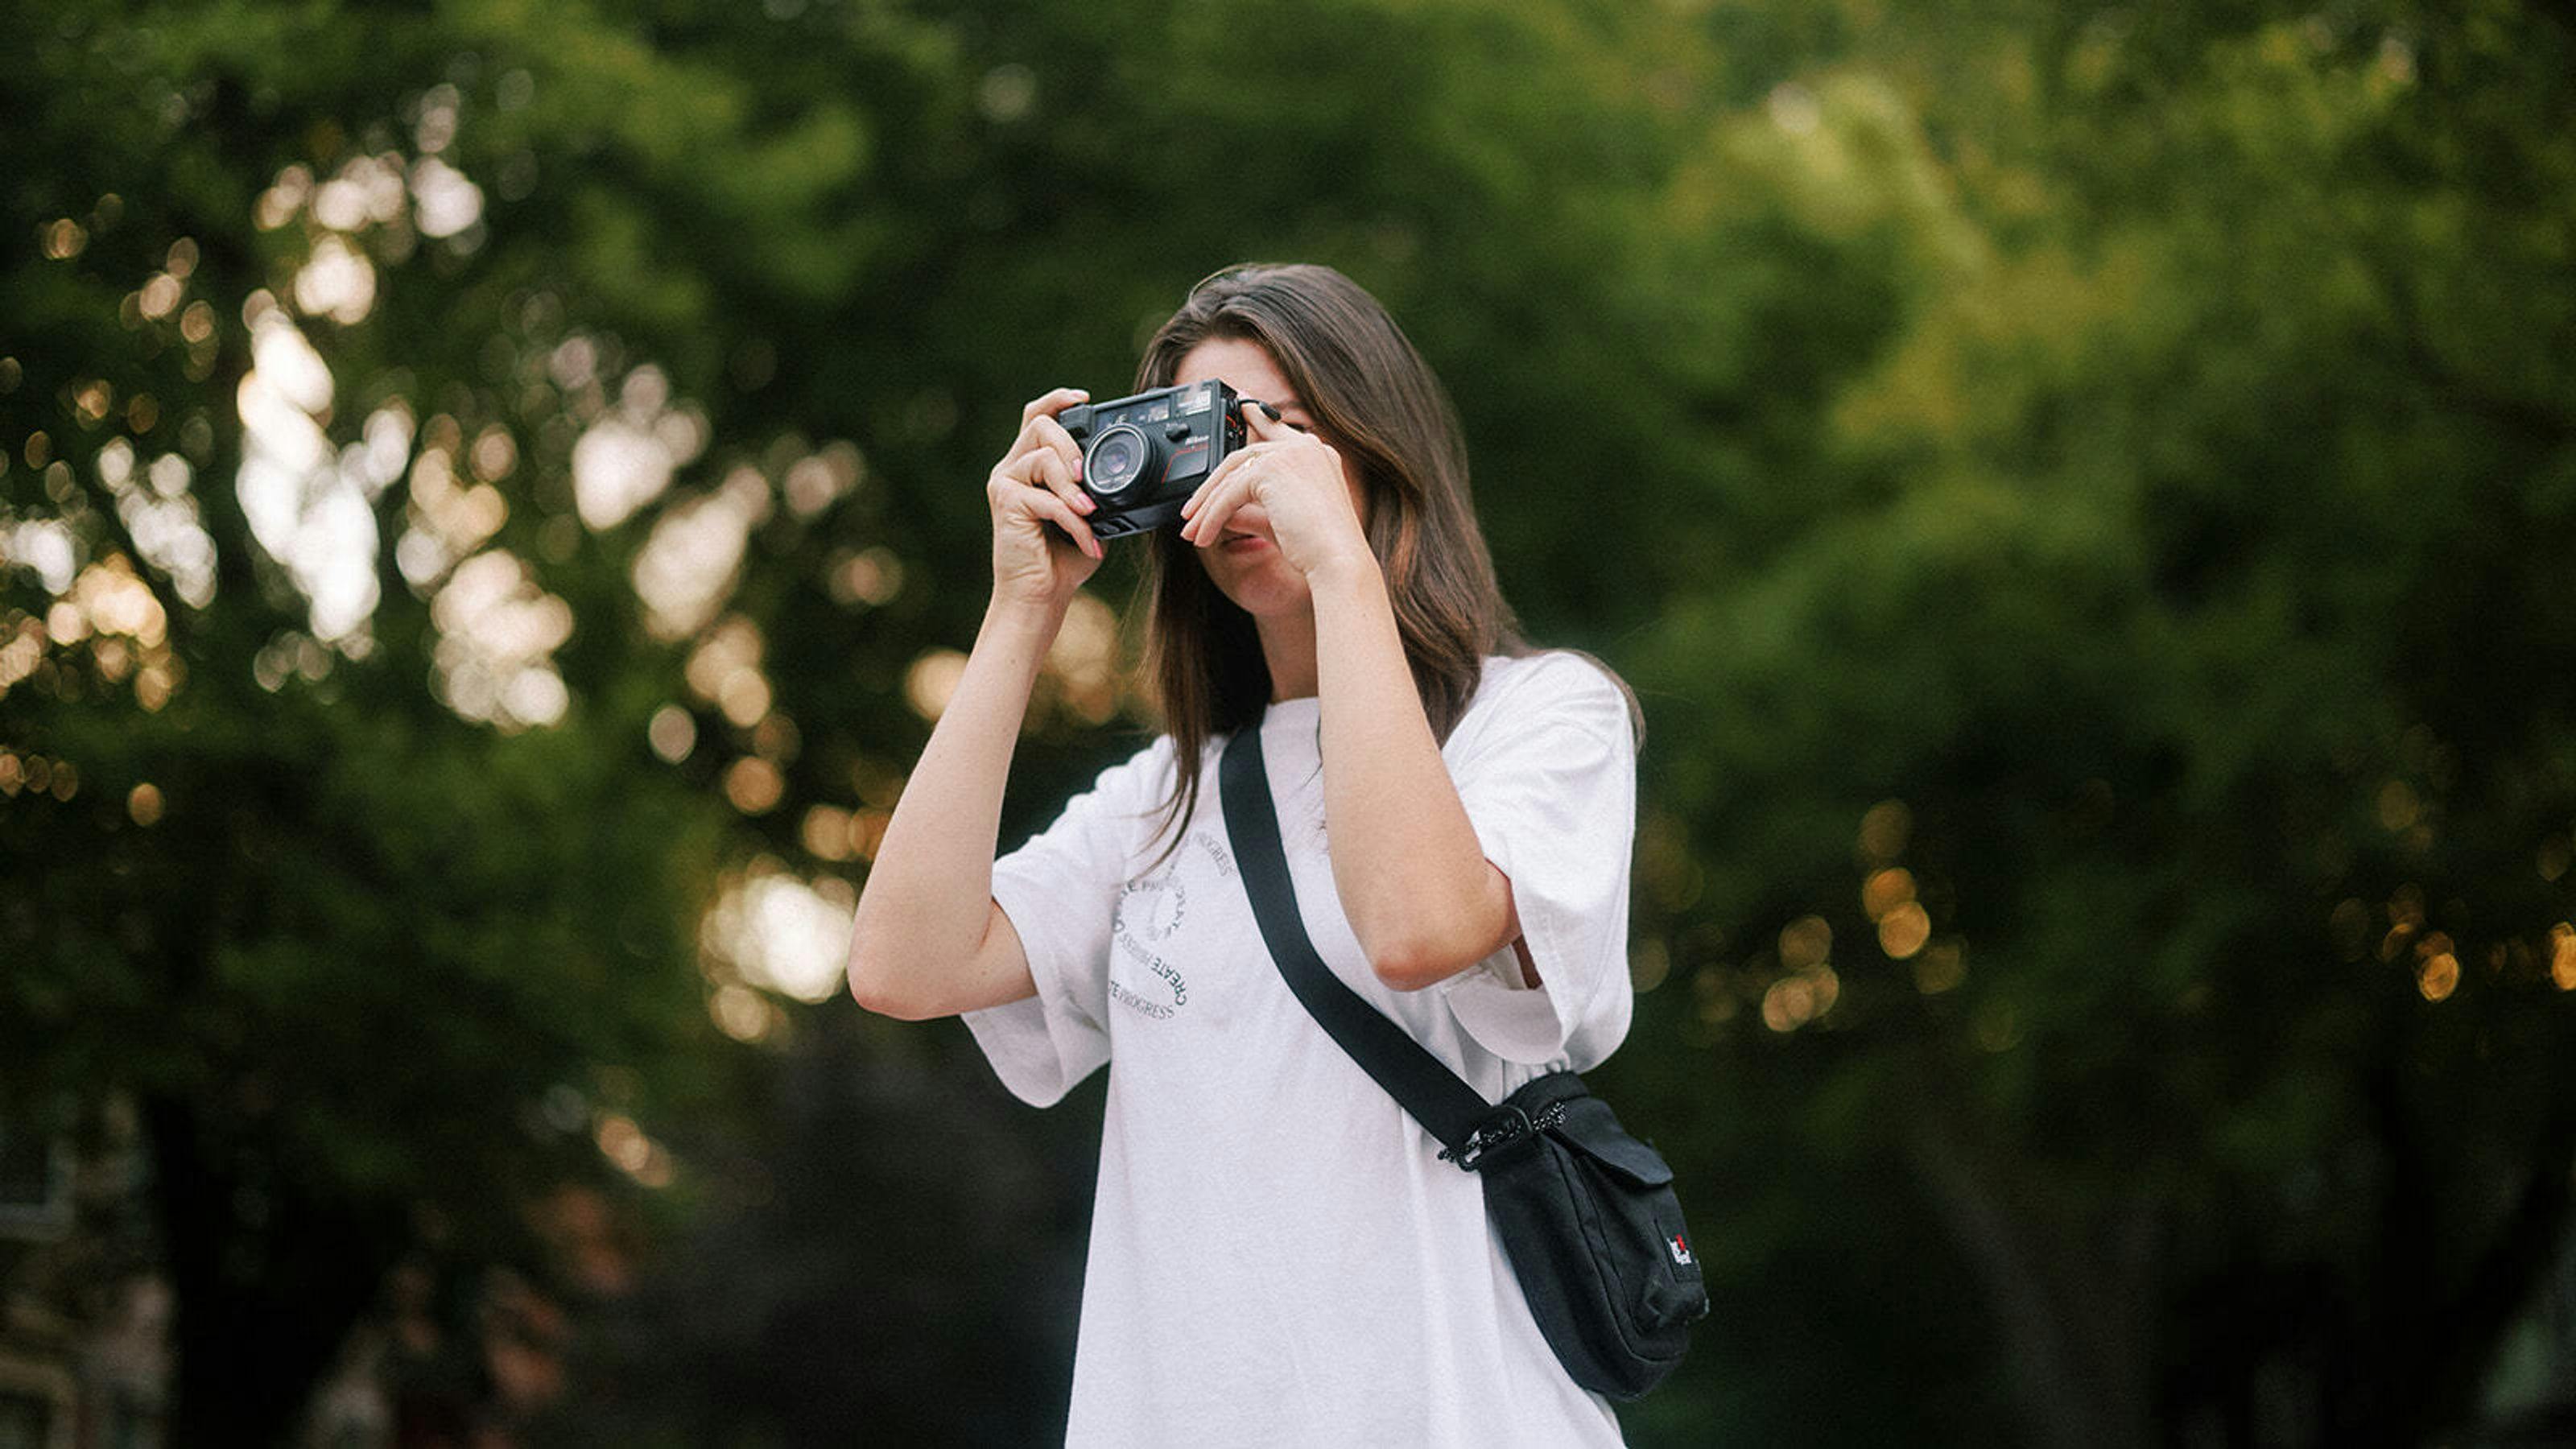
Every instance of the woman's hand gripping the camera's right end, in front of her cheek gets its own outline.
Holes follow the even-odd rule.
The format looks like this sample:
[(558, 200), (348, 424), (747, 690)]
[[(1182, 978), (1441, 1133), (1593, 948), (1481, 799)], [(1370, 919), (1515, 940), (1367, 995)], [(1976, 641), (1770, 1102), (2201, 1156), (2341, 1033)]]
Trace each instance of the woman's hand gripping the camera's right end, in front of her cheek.
[(1306, 578), (1345, 562), (1376, 562), (1360, 529), (1358, 485), (1342, 454), (1309, 431), (1291, 428), (1260, 402), (1244, 402), (1252, 441), (1216, 464), (1180, 505), (1180, 536), (1200, 549), (1226, 531), (1265, 534), (1288, 567)]

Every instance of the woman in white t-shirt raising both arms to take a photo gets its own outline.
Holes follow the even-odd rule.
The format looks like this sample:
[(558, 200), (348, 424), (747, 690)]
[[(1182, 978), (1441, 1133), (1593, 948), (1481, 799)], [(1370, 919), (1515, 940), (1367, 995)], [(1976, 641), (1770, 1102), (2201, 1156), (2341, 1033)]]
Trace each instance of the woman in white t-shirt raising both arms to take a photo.
[(1036, 1106), (1113, 1067), (1074, 1444), (1615, 1444), (1479, 1181), (1280, 980), (1216, 761), (1262, 730), (1316, 949), (1499, 1101), (1628, 1031), (1633, 704), (1515, 634), (1448, 397), (1360, 286), (1198, 284), (1139, 387), (1211, 376), (1270, 407), (1151, 541), (1167, 735), (994, 859), (1030, 683), (1103, 557), (1056, 423), (1084, 394), (1048, 392), (987, 482), (992, 606), (868, 874), (850, 987), (963, 1013)]

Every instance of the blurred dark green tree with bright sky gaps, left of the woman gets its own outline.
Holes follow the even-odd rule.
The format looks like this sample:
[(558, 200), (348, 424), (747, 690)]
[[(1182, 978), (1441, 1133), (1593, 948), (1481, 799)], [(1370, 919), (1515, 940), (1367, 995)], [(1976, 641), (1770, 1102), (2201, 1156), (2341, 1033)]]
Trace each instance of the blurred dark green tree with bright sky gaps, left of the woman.
[[(732, 423), (672, 397), (708, 317), (866, 258), (858, 113), (762, 103), (793, 39), (721, 10), (680, 54), (590, 10), (10, 21), (0, 1065), (139, 1106), (188, 1441), (283, 1439), (410, 1250), (577, 1297), (551, 1189), (698, 1189), (636, 1191), (636, 1122), (714, 1088), (701, 915), (760, 838), (616, 523)], [(744, 433), (706, 467), (850, 482)], [(793, 727), (737, 735), (775, 797)]]

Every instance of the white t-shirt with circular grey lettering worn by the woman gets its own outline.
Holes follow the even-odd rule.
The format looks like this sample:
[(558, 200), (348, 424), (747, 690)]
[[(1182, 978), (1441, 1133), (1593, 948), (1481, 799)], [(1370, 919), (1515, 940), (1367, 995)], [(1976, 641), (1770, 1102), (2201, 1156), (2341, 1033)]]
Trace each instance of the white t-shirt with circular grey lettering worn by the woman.
[[(1262, 719), (1316, 951), (1486, 1101), (1628, 1031), (1636, 745), (1577, 655), (1489, 657), (1440, 755), (1512, 879), (1510, 946), (1430, 990), (1376, 980), (1332, 884), (1319, 701)], [(1110, 1065), (1069, 1444), (1618, 1444), (1538, 1336), (1479, 1178), (1288, 993), (1234, 869), (1211, 743), (1198, 817), (1157, 864), (1172, 740), (1100, 773), (994, 861), (1038, 995), (966, 1016), (1048, 1106)]]

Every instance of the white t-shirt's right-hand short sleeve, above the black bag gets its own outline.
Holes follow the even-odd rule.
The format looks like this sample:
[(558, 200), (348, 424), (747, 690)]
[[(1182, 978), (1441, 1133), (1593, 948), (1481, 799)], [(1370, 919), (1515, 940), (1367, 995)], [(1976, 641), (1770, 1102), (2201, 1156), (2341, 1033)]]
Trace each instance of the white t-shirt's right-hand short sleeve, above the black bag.
[[(1538, 990), (1504, 946), (1450, 977), (1448, 1006), (1512, 1062), (1600, 1065), (1628, 1034), (1628, 861), (1636, 735), (1628, 696), (1577, 655), (1515, 660), (1450, 763), (1484, 856), (1510, 877)], [(1461, 722), (1463, 732), (1466, 722)]]

